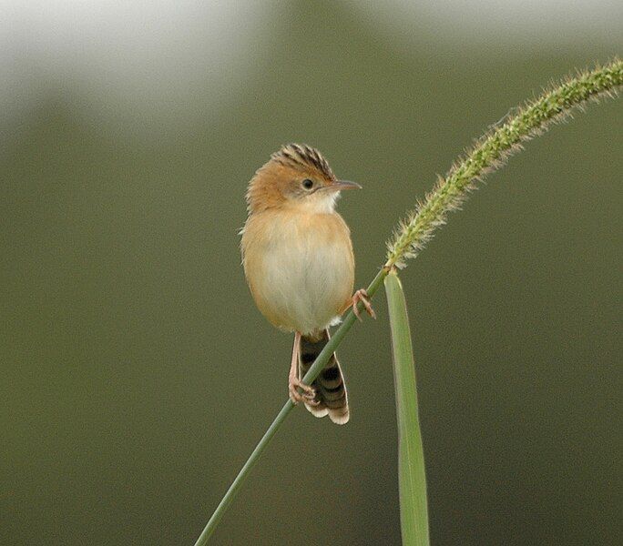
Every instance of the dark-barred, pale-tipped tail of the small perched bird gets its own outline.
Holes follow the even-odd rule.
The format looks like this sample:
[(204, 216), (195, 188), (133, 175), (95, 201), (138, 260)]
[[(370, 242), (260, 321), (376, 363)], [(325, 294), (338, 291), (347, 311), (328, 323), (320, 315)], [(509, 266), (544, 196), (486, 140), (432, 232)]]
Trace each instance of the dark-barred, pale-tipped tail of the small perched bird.
[[(318, 357), (322, 348), (329, 342), (329, 330), (322, 331), (320, 336), (301, 337), (301, 353), (299, 364), (301, 367), (301, 379), (311, 368), (311, 364)], [(342, 376), (342, 369), (335, 353), (327, 362), (320, 375), (311, 384), (316, 390), (316, 405), (305, 404), (305, 408), (310, 410), (315, 417), (329, 415), (329, 419), (338, 425), (348, 422), (348, 394), (346, 384)]]

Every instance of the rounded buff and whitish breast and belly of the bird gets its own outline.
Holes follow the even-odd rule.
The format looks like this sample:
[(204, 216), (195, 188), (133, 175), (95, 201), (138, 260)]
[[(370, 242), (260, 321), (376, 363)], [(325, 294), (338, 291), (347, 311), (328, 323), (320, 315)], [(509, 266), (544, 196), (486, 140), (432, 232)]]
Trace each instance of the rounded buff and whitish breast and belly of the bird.
[(303, 334), (335, 323), (352, 295), (348, 227), (336, 214), (319, 216), (264, 224), (245, 248), (245, 272), (260, 311), (274, 325)]

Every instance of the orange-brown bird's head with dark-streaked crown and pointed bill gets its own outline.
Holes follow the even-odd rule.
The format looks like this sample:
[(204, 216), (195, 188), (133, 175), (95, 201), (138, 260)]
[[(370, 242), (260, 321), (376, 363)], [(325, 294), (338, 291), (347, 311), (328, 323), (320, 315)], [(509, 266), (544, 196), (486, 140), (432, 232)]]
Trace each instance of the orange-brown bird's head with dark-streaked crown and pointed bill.
[(301, 211), (332, 212), (342, 189), (361, 188), (338, 180), (322, 154), (304, 144), (288, 144), (272, 154), (249, 183), (249, 211), (299, 207)]

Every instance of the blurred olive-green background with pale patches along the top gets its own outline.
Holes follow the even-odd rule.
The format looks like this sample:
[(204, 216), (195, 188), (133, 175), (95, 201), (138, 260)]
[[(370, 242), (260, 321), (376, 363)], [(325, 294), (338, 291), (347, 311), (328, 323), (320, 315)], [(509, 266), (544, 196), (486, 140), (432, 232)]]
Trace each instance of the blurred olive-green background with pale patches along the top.
[[(512, 106), (621, 53), (618, 1), (4, 2), (0, 543), (192, 544), (286, 399), (238, 250), (289, 141), (359, 181), (357, 283)], [(623, 108), (490, 177), (403, 273), (432, 541), (620, 544)], [(389, 331), (293, 412), (214, 544), (399, 544)]]

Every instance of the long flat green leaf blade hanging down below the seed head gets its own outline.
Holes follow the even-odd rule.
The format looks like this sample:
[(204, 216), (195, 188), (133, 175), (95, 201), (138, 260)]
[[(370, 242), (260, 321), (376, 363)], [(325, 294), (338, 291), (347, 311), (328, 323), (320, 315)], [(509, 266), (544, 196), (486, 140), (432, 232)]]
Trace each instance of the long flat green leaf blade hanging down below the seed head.
[(403, 285), (395, 270), (384, 279), (392, 329), (393, 379), (398, 419), (398, 485), (403, 546), (428, 546), (428, 506), (414, 351)]

